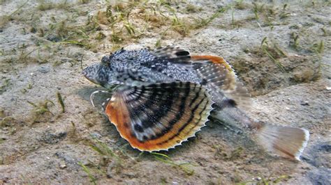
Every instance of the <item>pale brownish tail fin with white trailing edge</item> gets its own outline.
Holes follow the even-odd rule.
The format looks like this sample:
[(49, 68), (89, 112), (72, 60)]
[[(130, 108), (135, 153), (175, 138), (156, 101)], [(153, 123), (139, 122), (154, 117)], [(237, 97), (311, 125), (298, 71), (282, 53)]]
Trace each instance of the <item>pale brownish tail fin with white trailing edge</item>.
[(309, 140), (309, 131), (297, 127), (264, 124), (258, 129), (258, 143), (279, 156), (297, 159)]

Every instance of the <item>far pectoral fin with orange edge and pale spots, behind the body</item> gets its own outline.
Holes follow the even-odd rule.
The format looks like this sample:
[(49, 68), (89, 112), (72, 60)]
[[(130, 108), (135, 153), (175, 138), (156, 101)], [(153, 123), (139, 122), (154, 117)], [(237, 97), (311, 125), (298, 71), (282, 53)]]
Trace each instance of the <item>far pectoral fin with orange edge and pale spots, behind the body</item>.
[[(251, 105), (249, 95), (244, 85), (237, 80), (235, 72), (223, 58), (218, 56), (192, 56), (196, 62), (196, 70), (203, 83), (212, 89), (213, 100), (219, 106), (237, 105), (247, 109)], [(234, 101), (232, 101), (234, 100)]]

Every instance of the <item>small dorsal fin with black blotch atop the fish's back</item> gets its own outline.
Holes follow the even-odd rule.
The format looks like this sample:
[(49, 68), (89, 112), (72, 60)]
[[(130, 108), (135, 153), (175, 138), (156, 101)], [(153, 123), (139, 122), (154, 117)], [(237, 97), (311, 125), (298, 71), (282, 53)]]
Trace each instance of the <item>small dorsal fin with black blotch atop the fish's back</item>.
[(154, 56), (158, 58), (168, 59), (173, 63), (190, 63), (190, 53), (179, 47), (159, 47), (151, 51)]

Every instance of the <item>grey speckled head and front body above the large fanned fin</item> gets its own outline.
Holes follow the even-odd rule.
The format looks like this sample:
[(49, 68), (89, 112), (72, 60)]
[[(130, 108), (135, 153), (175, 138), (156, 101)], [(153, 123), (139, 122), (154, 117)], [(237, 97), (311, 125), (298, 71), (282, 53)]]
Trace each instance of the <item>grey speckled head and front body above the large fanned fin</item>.
[[(180, 54), (181, 50), (177, 52)], [(175, 63), (179, 58), (182, 63)], [(105, 88), (112, 85), (141, 86), (172, 81), (200, 83), (193, 66), (185, 62), (189, 56), (179, 58), (156, 57), (148, 49), (121, 49), (115, 54), (104, 56), (101, 63), (87, 67), (83, 74)]]

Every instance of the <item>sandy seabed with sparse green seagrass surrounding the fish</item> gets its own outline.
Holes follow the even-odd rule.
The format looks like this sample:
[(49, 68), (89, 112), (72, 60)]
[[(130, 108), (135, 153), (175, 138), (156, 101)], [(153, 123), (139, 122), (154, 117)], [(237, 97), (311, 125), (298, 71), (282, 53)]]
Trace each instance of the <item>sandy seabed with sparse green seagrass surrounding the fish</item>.
[[(0, 6), (0, 184), (330, 184), (330, 1)], [(162, 155), (133, 150), (91, 106), (102, 88), (82, 68), (166, 45), (223, 56), (252, 95), (251, 117), (309, 130), (302, 160), (214, 122)]]

